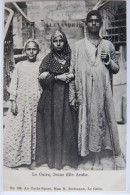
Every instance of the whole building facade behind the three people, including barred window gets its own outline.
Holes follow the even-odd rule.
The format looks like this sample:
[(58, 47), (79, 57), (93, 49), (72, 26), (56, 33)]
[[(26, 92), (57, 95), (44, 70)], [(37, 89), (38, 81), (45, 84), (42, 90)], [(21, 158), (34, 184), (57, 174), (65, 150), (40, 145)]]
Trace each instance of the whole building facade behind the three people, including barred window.
[[(14, 62), (24, 59), (25, 41), (36, 38), (40, 43), (39, 60), (42, 60), (50, 47), (51, 34), (62, 29), (73, 49), (74, 43), (87, 36), (84, 19), (97, 4), (97, 0), (82, 1), (24, 1), (6, 3), (14, 15), (5, 38), (4, 99), (8, 100), (8, 86)], [(103, 17), (101, 36), (111, 40), (116, 48), (120, 72), (113, 77), (113, 97), (118, 122), (126, 121), (126, 2), (109, 1), (100, 7)], [(5, 11), (5, 23), (8, 20)], [(8, 44), (10, 46), (8, 46)], [(8, 49), (7, 49), (8, 48)]]

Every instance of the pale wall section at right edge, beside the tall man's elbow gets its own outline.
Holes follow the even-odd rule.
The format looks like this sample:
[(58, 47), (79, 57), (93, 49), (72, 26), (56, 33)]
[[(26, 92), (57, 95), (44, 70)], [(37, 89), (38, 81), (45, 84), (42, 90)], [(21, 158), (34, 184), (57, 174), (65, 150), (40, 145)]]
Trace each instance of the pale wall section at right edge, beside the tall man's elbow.
[(117, 121), (126, 122), (126, 96), (127, 96), (127, 58), (126, 45), (119, 47), (118, 61), (120, 70), (113, 76), (113, 97)]

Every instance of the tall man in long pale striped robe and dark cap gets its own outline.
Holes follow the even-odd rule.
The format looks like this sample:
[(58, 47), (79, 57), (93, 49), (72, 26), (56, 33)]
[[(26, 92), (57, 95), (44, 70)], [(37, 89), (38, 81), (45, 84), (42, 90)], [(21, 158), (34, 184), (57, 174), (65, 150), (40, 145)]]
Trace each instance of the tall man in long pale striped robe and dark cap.
[(75, 82), (70, 83), (69, 101), (79, 107), (78, 152), (85, 159), (84, 169), (101, 170), (103, 149), (121, 155), (110, 76), (119, 65), (112, 43), (99, 36), (102, 18), (97, 10), (88, 13), (86, 26), (88, 37), (76, 42), (72, 55)]

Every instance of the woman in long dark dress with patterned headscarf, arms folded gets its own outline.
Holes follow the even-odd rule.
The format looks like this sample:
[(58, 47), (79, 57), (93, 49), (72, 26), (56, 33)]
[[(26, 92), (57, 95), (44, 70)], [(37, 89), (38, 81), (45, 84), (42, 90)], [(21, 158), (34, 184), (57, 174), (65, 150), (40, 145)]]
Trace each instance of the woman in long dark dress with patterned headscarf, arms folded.
[(40, 66), (43, 93), (38, 104), (36, 162), (68, 169), (77, 166), (77, 119), (69, 106), (71, 50), (62, 31), (52, 35), (50, 49)]

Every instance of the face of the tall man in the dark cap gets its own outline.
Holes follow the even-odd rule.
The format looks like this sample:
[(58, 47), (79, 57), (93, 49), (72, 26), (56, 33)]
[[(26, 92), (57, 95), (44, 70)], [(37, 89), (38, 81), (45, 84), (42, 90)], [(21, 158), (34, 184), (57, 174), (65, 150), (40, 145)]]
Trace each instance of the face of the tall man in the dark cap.
[(102, 26), (102, 22), (96, 15), (90, 16), (90, 18), (88, 18), (87, 27), (89, 32), (98, 33), (101, 26)]

